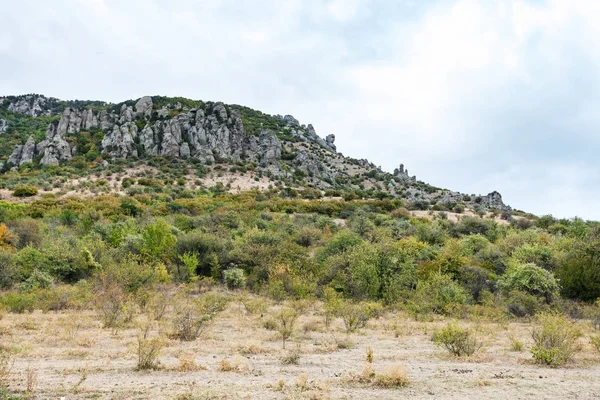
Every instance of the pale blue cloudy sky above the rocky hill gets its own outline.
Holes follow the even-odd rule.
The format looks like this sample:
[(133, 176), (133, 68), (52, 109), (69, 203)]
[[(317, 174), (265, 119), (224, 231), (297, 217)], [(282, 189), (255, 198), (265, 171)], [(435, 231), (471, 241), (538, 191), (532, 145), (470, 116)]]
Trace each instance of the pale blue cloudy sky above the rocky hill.
[(0, 95), (291, 114), (384, 170), (600, 220), (597, 0), (0, 1)]

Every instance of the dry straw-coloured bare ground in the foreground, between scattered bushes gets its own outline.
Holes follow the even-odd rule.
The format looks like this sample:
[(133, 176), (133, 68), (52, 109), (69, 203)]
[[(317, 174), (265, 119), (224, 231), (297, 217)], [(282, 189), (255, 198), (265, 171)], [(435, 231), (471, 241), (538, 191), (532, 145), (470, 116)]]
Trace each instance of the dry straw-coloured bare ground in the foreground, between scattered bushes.
[[(39, 399), (600, 398), (600, 357), (583, 322), (581, 351), (566, 367), (552, 369), (531, 361), (532, 325), (526, 323), (468, 323), (484, 346), (459, 359), (431, 341), (447, 322), (442, 319), (387, 314), (346, 334), (341, 320), (325, 328), (317, 304), (300, 318), (284, 352), (278, 334), (264, 327), (268, 314), (249, 314), (232, 301), (200, 339), (167, 339), (161, 366), (151, 371), (136, 370), (137, 329), (102, 328), (93, 311), (5, 314), (0, 343), (15, 352), (10, 390), (25, 393), (29, 386), (30, 398)], [(523, 351), (510, 350), (511, 337), (523, 341)], [(356, 382), (369, 347), (376, 373), (400, 365), (409, 385)], [(301, 353), (297, 365), (282, 363), (290, 351)]]

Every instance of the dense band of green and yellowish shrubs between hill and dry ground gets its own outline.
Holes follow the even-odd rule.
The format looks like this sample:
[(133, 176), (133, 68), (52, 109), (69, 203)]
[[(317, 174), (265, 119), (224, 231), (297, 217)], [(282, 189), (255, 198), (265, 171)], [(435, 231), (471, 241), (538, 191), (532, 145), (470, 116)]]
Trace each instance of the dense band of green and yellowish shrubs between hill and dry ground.
[(400, 200), (301, 200), (277, 190), (0, 202), (0, 304), (88, 307), (101, 295), (213, 282), (276, 300), (335, 293), (342, 302), (331, 312), (346, 313), (348, 330), (359, 318), (352, 313), (364, 312), (354, 302), (415, 316), (596, 318), (584, 302), (600, 297), (598, 224), (544, 217), (523, 230), (405, 211)]

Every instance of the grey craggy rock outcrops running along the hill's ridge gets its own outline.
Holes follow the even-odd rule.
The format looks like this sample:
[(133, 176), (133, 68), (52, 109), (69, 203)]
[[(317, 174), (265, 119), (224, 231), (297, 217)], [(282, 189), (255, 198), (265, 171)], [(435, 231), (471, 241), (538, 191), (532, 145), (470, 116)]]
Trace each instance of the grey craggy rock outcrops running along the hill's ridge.
[[(312, 124), (300, 124), (291, 115), (270, 116), (220, 102), (165, 104), (165, 99), (144, 96), (135, 102), (114, 105), (62, 102), (39, 95), (1, 97), (3, 110), (32, 118), (53, 116), (62, 110), (60, 119), (49, 124), (44, 140), (35, 143), (34, 136), (29, 136), (26, 142), (15, 146), (2, 168), (16, 169), (38, 159), (41, 165), (58, 165), (77, 154), (72, 143), (79, 141), (80, 132), (90, 132), (94, 152), (102, 153), (105, 167), (111, 159), (144, 157), (254, 164), (270, 178), (282, 179), (284, 183), (287, 180), (288, 184), (300, 183), (288, 180), (296, 175), (302, 184), (323, 190), (371, 191), (371, 195), (374, 191), (387, 191), (387, 195), (409, 202), (465, 203), (510, 210), (498, 192), (471, 198), (415, 184), (416, 176), (409, 175), (404, 164), (388, 174), (368, 160), (346, 158), (337, 153), (335, 135), (322, 138)], [(246, 133), (242, 115), (250, 122), (248, 129), (252, 134)], [(7, 129), (8, 122), (0, 119), (0, 134)], [(315, 150), (315, 145), (320, 149)], [(91, 155), (95, 158), (98, 154)], [(365, 180), (369, 184), (364, 184)]]

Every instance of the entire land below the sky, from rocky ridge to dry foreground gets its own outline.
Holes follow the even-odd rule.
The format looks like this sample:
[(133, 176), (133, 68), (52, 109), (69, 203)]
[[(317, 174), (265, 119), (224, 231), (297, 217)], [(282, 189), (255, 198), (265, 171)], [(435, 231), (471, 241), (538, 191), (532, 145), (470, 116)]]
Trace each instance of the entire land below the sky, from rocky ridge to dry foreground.
[(600, 390), (597, 222), (385, 172), (289, 115), (0, 105), (0, 399)]

